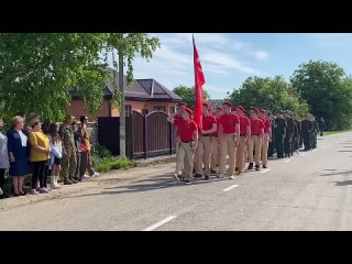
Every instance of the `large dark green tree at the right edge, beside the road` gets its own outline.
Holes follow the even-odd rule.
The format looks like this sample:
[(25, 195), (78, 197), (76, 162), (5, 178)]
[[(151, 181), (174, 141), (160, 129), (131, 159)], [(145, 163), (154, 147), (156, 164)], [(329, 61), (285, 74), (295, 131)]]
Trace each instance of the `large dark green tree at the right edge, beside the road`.
[(309, 61), (290, 78), (298, 96), (311, 107), (317, 118), (323, 117), (330, 129), (346, 129), (352, 120), (352, 81), (334, 63)]

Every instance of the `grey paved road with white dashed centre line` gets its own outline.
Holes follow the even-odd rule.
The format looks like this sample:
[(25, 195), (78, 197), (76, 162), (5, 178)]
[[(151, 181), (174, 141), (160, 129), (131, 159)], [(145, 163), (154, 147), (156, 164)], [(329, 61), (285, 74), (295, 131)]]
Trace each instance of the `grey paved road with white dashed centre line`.
[(233, 180), (186, 186), (170, 176), (173, 163), (135, 168), (124, 182), (129, 172), (0, 210), (0, 230), (352, 230), (351, 158), (352, 133), (343, 133)]

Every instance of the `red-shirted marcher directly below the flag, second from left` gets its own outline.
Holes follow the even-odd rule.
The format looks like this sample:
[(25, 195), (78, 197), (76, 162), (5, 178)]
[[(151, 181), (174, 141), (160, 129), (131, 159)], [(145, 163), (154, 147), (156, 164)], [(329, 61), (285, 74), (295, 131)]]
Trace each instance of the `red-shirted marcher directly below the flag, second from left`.
[(205, 102), (202, 105), (202, 130), (198, 131), (200, 135), (195, 155), (195, 178), (201, 177), (202, 168), (205, 167), (205, 178), (209, 179), (212, 133), (217, 132), (217, 120), (211, 114), (209, 105)]

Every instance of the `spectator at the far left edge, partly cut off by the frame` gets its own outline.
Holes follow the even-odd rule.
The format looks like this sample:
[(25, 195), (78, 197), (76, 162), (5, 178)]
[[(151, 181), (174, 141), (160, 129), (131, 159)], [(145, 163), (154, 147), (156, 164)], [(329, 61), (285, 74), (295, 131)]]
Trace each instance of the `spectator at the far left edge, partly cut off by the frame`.
[(1, 132), (3, 125), (3, 120), (0, 118), (0, 199), (9, 198), (9, 196), (3, 191), (4, 173), (10, 167), (8, 138)]

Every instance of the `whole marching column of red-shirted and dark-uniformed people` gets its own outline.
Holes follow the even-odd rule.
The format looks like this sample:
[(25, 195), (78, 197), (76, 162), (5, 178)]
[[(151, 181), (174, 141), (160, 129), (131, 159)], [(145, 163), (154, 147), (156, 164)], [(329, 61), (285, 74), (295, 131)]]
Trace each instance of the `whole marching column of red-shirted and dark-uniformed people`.
[[(242, 106), (234, 107), (224, 101), (222, 107), (211, 110), (202, 105), (202, 128), (193, 120), (193, 110), (179, 103), (176, 113), (167, 118), (176, 125), (177, 180), (190, 184), (191, 178), (209, 179), (210, 175), (234, 179), (241, 175), (246, 163), (248, 170), (267, 168), (268, 157), (290, 157), (299, 150), (317, 147), (317, 135), (322, 135), (323, 119), (319, 125), (312, 114), (300, 120), (292, 111), (271, 113), (252, 107), (246, 117)], [(229, 169), (227, 170), (227, 164)]]

